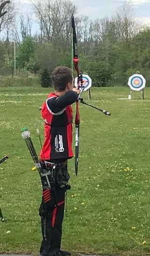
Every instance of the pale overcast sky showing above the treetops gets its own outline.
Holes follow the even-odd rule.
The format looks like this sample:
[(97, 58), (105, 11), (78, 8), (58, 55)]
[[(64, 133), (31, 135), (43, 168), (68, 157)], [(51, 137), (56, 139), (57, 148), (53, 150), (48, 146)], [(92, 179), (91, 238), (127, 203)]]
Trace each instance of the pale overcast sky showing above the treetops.
[[(19, 3), (20, 9), (31, 11), (31, 0), (14, 0)], [(88, 16), (91, 20), (111, 17), (124, 0), (72, 0), (77, 7), (77, 15)], [(134, 4), (135, 17), (150, 25), (150, 0), (131, 0)]]

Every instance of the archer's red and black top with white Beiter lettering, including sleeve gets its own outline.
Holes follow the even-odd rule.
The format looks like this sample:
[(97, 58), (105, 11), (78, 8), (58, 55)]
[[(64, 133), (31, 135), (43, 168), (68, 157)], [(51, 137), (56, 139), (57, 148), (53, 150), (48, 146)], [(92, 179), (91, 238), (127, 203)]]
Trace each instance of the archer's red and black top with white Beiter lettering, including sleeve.
[[(42, 106), (45, 142), (40, 159), (61, 159), (74, 156), (72, 151), (72, 107), (67, 103), (72, 104), (76, 99), (77, 94), (74, 91), (68, 91), (60, 97), (54, 93), (49, 94)], [(61, 109), (59, 102), (61, 102)]]

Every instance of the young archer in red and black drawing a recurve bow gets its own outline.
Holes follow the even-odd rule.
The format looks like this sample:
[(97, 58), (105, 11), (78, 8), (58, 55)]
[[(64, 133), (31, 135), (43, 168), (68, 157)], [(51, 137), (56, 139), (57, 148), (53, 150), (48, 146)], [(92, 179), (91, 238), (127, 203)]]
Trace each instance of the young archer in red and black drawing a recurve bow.
[(64, 216), (65, 192), (69, 173), (67, 159), (74, 156), (72, 150), (72, 107), (78, 99), (80, 90), (74, 88), (72, 70), (58, 66), (52, 72), (54, 93), (48, 95), (42, 106), (45, 122), (45, 142), (40, 153), (42, 173), (50, 172), (54, 190), (49, 189), (45, 177), (42, 203), (39, 208), (43, 240), (40, 247), (42, 256), (70, 256), (60, 250), (62, 221)]

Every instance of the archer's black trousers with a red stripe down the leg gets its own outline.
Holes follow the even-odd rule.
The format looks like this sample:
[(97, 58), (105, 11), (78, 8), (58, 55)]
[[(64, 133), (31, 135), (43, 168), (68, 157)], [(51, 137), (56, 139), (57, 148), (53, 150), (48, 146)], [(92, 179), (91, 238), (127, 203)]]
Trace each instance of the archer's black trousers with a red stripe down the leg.
[[(67, 166), (64, 168), (67, 170)], [(42, 185), (43, 184), (44, 182), (42, 182)], [(44, 185), (43, 189), (43, 193), (47, 191)], [(49, 193), (49, 190), (47, 192)], [(40, 254), (43, 256), (53, 256), (55, 252), (60, 250), (65, 206), (65, 192), (66, 190), (64, 188), (60, 188), (56, 184), (56, 195), (58, 201), (57, 206), (52, 205), (52, 200), (45, 202), (46, 198), (49, 198), (49, 195), (46, 194), (45, 197), (42, 198), (42, 202), (39, 207), (39, 215), (41, 216), (41, 228), (43, 236)], [(50, 197), (52, 198), (51, 192)]]

